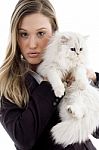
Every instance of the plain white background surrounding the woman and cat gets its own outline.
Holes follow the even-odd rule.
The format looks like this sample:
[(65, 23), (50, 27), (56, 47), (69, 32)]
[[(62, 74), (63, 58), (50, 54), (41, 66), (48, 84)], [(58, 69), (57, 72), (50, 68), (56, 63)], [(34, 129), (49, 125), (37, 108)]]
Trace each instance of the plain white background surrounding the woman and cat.
[[(7, 46), (9, 21), (18, 0), (3, 0), (0, 4), (0, 65)], [(99, 72), (99, 4), (98, 0), (50, 0), (55, 7), (60, 31), (89, 35), (89, 67)], [(99, 140), (92, 139), (99, 150)], [(0, 124), (0, 149), (15, 150), (12, 140)]]

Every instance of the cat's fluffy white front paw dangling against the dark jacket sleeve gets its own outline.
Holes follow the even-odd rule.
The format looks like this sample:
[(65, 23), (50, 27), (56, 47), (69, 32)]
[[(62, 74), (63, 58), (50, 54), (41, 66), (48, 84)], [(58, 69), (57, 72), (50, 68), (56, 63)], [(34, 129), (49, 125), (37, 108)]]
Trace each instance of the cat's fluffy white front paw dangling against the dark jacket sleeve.
[(64, 84), (61, 84), (60, 86), (57, 86), (54, 88), (54, 93), (56, 95), (56, 97), (62, 97), (65, 93), (65, 87)]

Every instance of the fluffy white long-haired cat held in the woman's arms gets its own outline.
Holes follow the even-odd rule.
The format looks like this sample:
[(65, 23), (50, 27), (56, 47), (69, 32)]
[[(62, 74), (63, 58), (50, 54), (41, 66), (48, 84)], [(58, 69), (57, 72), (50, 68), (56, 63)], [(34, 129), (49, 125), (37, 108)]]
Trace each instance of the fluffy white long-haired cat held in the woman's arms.
[[(86, 76), (87, 55), (86, 37), (56, 32), (37, 69), (48, 78), (57, 97), (65, 92), (59, 104), (61, 122), (51, 130), (55, 142), (64, 147), (85, 142), (99, 127), (99, 91), (89, 84)], [(68, 73), (75, 78), (69, 87), (62, 82)]]

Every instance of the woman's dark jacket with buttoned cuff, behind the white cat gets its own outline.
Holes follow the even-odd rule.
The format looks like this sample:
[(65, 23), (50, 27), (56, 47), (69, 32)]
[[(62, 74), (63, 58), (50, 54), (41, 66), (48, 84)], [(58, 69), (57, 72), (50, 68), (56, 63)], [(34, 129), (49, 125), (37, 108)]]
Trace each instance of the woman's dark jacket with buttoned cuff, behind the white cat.
[[(50, 129), (59, 122), (56, 98), (47, 81), (40, 84), (28, 74), (25, 83), (29, 92), (29, 102), (25, 108), (19, 108), (5, 97), (1, 98), (1, 123), (17, 150), (64, 150), (54, 144)], [(99, 131), (97, 130), (99, 135)], [(96, 135), (95, 135), (96, 136)], [(68, 137), (67, 137), (68, 138)], [(73, 144), (65, 150), (96, 150), (91, 141)]]

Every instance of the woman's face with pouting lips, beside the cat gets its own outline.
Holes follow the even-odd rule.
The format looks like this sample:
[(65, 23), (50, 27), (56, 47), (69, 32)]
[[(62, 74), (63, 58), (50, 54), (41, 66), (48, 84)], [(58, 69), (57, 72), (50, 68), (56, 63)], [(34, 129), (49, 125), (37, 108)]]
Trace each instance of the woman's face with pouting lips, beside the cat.
[(21, 20), (18, 26), (18, 45), (29, 64), (37, 65), (41, 62), (42, 52), (51, 36), (52, 27), (46, 16), (35, 13)]

